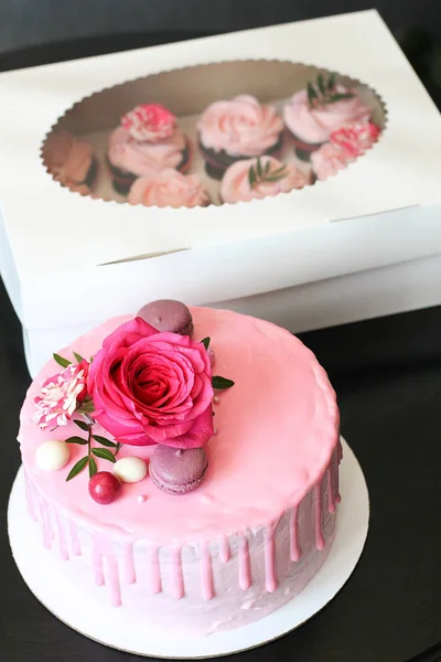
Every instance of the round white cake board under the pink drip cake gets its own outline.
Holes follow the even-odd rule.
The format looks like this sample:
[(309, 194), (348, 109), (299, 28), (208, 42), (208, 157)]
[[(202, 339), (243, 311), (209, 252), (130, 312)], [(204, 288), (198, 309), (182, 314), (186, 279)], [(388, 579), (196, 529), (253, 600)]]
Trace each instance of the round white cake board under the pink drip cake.
[[(62, 622), (74, 630), (121, 651), (154, 658), (197, 659), (226, 655), (251, 649), (298, 628), (320, 611), (343, 587), (363, 552), (369, 522), (369, 499), (363, 471), (353, 451), (342, 439), (342, 503), (338, 506), (336, 535), (330, 555), (303, 591), (263, 619), (228, 632), (191, 639), (133, 627), (123, 609), (99, 602), (99, 619), (93, 595), (82, 587), (67, 586), (68, 563), (47, 552), (40, 526), (31, 520), (25, 503), (22, 469), (12, 487), (8, 527), (12, 553), (19, 570), (35, 597)], [(52, 577), (52, 581), (47, 579)], [(66, 599), (68, 595), (68, 599)], [(104, 598), (103, 592), (100, 594)], [(89, 607), (89, 608), (88, 608)]]

